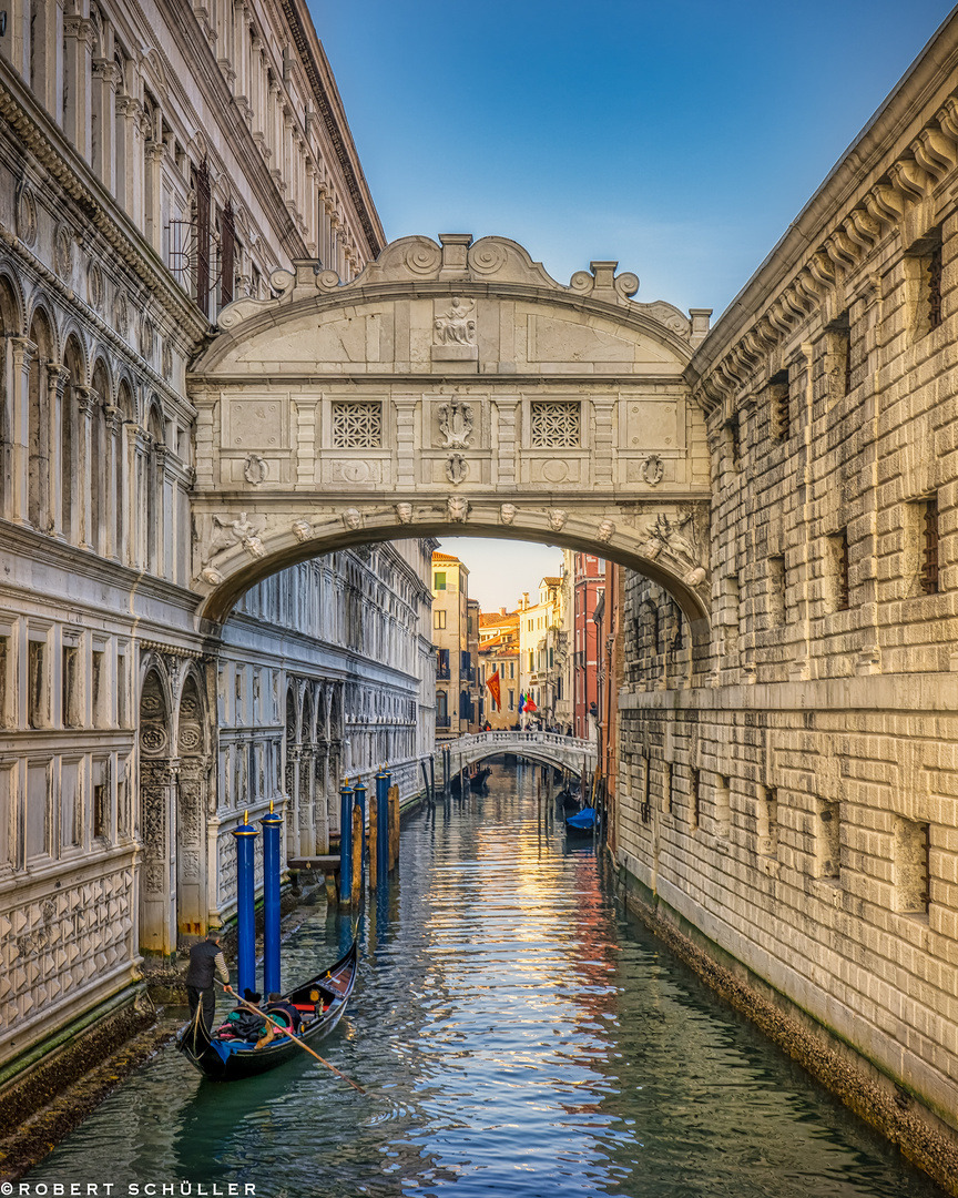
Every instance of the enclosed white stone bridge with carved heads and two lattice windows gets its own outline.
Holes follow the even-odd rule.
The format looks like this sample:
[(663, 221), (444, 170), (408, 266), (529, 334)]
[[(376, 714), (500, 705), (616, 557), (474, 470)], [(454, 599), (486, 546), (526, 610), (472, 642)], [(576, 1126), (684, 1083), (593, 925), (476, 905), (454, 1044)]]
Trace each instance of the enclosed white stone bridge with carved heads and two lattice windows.
[(188, 375), (193, 588), (211, 631), (329, 550), (487, 536), (666, 586), (708, 642), (710, 466), (684, 371), (708, 328), (593, 262), (568, 286), (502, 237), (407, 237), (342, 284), (313, 262), (238, 300)]

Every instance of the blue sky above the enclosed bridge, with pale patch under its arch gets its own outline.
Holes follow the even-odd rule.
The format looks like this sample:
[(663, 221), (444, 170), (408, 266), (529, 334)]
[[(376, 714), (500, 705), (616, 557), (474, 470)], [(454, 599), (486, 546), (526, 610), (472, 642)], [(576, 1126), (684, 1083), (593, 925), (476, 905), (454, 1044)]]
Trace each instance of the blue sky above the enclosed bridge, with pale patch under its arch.
[[(390, 241), (497, 234), (564, 284), (612, 259), (638, 276), (636, 300), (717, 319), (950, 6), (311, 0), (311, 11)], [(511, 607), (544, 559), (492, 547), (502, 582), (489, 604)]]

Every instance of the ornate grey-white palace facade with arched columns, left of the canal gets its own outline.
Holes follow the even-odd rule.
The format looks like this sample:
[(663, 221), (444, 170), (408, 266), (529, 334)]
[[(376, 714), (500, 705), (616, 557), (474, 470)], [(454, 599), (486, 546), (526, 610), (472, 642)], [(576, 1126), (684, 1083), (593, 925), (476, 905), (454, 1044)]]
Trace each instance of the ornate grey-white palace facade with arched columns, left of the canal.
[(382, 243), (298, 0), (8, 6), (0, 1060), (229, 918), (245, 809), (322, 851), (340, 770), (418, 787), (433, 541), (303, 562), (222, 625), (188, 589), (187, 364), (277, 270), (352, 278)]

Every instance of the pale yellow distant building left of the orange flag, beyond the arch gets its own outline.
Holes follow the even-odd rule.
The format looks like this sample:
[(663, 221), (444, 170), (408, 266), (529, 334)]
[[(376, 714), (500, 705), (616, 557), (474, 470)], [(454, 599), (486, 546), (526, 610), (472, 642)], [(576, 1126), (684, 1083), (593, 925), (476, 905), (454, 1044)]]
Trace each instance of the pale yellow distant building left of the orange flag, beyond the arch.
[(453, 553), (432, 555), (432, 639), (436, 645), (436, 737), (478, 728), (474, 653), (479, 648), (479, 604), (469, 631), (469, 570)]

